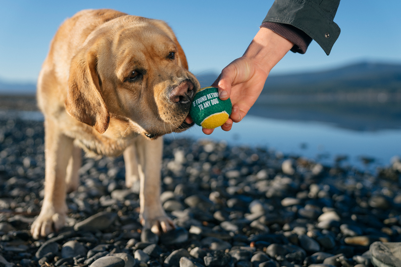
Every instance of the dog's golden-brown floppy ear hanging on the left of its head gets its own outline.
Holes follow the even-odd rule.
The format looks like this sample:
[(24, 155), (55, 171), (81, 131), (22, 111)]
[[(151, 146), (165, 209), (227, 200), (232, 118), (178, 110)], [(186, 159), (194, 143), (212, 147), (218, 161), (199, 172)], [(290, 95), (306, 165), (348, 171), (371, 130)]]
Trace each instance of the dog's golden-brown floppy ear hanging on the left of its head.
[(65, 107), (75, 119), (103, 134), (109, 127), (110, 114), (100, 84), (97, 52), (92, 47), (84, 46), (71, 61)]

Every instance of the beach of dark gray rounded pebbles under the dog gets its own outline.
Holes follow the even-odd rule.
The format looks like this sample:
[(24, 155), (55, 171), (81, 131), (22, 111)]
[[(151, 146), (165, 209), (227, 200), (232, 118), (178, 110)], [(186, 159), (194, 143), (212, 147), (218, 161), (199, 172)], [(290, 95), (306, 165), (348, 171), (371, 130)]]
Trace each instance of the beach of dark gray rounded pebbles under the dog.
[(122, 157), (83, 158), (67, 225), (43, 239), (43, 122), (0, 118), (0, 267), (370, 267), (401, 242), (401, 161), (368, 172), (268, 148), (164, 141), (163, 207), (177, 228), (139, 223)]

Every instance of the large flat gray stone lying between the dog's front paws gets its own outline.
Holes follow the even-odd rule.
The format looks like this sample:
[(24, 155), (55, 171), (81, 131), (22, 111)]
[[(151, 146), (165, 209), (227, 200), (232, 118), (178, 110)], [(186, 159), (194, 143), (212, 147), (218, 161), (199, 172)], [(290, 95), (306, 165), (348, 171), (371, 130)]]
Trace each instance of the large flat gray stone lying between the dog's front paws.
[(96, 231), (105, 230), (110, 227), (110, 225), (117, 218), (117, 213), (113, 212), (99, 212), (89, 218), (74, 225), (75, 231)]

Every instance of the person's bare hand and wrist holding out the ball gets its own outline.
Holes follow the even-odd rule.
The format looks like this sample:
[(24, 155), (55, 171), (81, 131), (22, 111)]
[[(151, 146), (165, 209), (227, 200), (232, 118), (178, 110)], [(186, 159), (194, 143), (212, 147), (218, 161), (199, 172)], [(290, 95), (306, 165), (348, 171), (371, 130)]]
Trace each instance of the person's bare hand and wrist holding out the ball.
[[(221, 125), (231, 130), (233, 122), (239, 122), (259, 97), (270, 70), (294, 46), (292, 42), (267, 28), (260, 28), (244, 55), (225, 67), (212, 86), (219, 89), (221, 100), (229, 97), (233, 108), (227, 121)], [(202, 129), (211, 134), (213, 129)]]

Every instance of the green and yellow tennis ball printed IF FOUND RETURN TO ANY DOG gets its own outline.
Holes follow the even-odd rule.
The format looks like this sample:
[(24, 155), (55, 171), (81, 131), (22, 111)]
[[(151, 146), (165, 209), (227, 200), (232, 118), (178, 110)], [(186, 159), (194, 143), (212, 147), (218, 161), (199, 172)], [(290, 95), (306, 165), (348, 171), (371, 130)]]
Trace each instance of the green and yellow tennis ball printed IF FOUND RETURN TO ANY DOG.
[(189, 111), (193, 121), (203, 128), (223, 125), (231, 114), (231, 100), (221, 100), (216, 87), (199, 89)]

